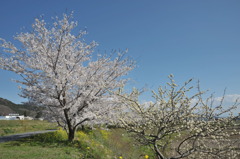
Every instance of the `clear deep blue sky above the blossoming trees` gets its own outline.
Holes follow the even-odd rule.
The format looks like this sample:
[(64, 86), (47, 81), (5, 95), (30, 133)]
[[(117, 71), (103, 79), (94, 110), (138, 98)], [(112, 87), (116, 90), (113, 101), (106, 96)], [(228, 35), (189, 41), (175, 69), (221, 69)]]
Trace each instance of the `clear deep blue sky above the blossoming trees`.
[[(129, 49), (137, 61), (130, 87), (156, 89), (172, 73), (179, 83), (199, 79), (216, 96), (224, 88), (240, 94), (239, 0), (1, 0), (0, 37), (13, 41), (39, 15), (66, 11), (99, 50)], [(14, 78), (0, 71), (0, 97), (21, 103)]]

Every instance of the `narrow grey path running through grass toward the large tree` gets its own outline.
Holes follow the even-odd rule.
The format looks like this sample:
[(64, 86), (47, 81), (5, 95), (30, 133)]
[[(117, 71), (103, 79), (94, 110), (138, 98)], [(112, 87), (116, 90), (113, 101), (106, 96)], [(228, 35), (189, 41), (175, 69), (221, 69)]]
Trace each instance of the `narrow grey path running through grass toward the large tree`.
[(29, 136), (32, 136), (32, 135), (53, 132), (53, 131), (56, 131), (56, 130), (34, 131), (34, 132), (27, 132), (27, 133), (21, 133), (21, 134), (9, 135), (9, 136), (2, 136), (2, 137), (0, 137), (0, 143), (13, 141), (13, 140), (29, 137)]

